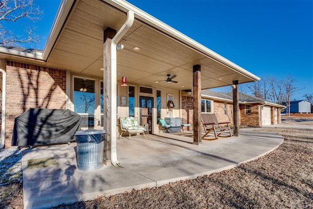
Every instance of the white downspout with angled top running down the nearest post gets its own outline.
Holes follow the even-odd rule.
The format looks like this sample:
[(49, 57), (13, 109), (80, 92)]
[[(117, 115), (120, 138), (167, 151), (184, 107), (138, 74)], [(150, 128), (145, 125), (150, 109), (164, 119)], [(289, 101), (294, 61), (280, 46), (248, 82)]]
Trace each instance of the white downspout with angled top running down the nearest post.
[(112, 38), (111, 42), (111, 92), (110, 92), (110, 100), (111, 100), (111, 163), (114, 166), (119, 166), (120, 163), (117, 160), (117, 153), (116, 153), (116, 95), (117, 95), (117, 88), (116, 88), (116, 45), (125, 35), (125, 33), (131, 28), (134, 23), (134, 12), (128, 11), (127, 12), (127, 19), (123, 26), (117, 31), (115, 36)]

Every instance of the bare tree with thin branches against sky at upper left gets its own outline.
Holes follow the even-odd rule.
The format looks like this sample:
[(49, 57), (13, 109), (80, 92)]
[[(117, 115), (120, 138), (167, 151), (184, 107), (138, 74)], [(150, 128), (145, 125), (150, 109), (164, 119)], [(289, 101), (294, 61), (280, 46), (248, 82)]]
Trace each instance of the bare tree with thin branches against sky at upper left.
[(26, 26), (25, 36), (16, 35), (6, 28), (5, 23), (29, 19), (33, 23), (41, 20), (43, 12), (35, 7), (34, 0), (0, 0), (0, 45), (20, 46), (21, 43), (38, 42), (40, 36), (34, 33), (36, 27)]

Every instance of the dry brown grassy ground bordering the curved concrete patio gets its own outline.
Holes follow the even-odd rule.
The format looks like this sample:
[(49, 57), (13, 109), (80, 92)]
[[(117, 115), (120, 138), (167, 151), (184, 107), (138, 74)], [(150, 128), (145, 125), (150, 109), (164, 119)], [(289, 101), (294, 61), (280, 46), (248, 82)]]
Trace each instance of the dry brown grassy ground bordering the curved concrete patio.
[[(313, 125), (313, 118), (306, 119), (287, 117), (282, 123)], [(56, 208), (313, 208), (313, 130), (266, 131), (284, 136), (284, 142), (237, 168)], [(22, 182), (0, 186), (0, 208), (22, 207)]]

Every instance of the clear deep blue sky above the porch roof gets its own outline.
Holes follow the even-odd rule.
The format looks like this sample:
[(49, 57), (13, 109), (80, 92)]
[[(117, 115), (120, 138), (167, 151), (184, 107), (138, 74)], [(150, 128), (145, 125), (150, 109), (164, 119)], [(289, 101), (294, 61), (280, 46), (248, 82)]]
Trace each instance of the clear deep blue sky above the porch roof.
[[(60, 0), (34, 2), (45, 13), (37, 33), (47, 38)], [(292, 99), (313, 93), (313, 0), (128, 2), (261, 78), (291, 76)]]

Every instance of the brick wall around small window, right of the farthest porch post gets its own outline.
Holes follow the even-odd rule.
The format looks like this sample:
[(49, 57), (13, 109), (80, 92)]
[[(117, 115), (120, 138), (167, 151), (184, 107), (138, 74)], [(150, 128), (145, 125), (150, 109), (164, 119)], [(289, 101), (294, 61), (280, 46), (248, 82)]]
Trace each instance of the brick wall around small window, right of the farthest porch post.
[(259, 116), (259, 105), (251, 104), (251, 114), (246, 114), (245, 108), (244, 104), (239, 105), (240, 125), (259, 127), (259, 120), (262, 121), (262, 118)]

